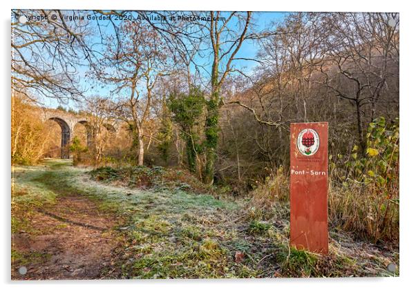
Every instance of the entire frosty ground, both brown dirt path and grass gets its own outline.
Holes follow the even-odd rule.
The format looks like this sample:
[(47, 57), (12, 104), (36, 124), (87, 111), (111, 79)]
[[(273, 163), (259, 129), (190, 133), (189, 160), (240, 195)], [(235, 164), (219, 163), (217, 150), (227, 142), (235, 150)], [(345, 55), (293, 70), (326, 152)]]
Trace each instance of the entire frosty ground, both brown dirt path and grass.
[(13, 280), (399, 274), (399, 249), (339, 229), (328, 256), (291, 249), (288, 205), (265, 219), (249, 198), (99, 182), (70, 160), (12, 171)]

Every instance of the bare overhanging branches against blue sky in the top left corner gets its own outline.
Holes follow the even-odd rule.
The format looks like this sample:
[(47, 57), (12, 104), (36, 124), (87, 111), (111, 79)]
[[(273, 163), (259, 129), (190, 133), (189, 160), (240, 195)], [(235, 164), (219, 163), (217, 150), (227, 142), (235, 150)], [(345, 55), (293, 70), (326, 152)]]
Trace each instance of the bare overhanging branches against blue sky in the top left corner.
[[(81, 67), (96, 61), (88, 44), (89, 21), (67, 21), (65, 15), (84, 11), (12, 10), (12, 90), (39, 97), (79, 99)], [(27, 22), (20, 23), (19, 17)], [(25, 18), (26, 17), (26, 18)], [(37, 95), (38, 98), (32, 97)]]

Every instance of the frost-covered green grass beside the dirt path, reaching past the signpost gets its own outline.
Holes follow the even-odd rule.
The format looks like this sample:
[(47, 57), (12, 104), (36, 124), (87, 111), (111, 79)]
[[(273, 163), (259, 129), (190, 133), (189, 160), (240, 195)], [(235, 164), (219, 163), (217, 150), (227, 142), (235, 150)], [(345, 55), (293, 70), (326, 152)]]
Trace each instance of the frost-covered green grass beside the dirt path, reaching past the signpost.
[(117, 273), (114, 278), (392, 276), (386, 266), (398, 264), (398, 254), (354, 242), (342, 231), (331, 232), (326, 257), (290, 249), (285, 206), (281, 215), (261, 215), (247, 200), (180, 186), (97, 181), (88, 168), (68, 161), (47, 160), (44, 166), (17, 168), (15, 186), (49, 204), (59, 195), (82, 195), (124, 220), (117, 262), (106, 269)]

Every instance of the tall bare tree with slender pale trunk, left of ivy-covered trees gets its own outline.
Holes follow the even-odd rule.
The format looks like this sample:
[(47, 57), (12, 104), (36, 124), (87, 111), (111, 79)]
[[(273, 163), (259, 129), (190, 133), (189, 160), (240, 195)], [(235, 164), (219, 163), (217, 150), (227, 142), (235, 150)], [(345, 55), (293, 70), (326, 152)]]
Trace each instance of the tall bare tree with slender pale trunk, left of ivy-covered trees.
[(120, 118), (133, 124), (138, 164), (143, 165), (144, 127), (151, 116), (155, 84), (166, 73), (167, 57), (158, 33), (146, 23), (123, 23), (119, 37), (120, 42), (109, 37), (97, 77), (114, 85), (113, 93), (120, 94), (116, 111)]

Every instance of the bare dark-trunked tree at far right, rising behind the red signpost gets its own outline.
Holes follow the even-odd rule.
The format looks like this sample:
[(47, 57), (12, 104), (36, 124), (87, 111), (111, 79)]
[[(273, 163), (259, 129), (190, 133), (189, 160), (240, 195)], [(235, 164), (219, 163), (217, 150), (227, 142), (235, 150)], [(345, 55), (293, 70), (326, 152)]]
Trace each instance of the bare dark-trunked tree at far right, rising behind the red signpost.
[[(328, 14), (325, 25), (332, 35), (327, 39), (328, 62), (321, 68), (323, 83), (337, 97), (355, 107), (361, 151), (366, 148), (364, 124), (366, 108), (375, 118), (381, 93), (388, 89), (389, 64), (398, 64), (398, 19), (395, 14)], [(392, 25), (393, 23), (393, 25)], [(398, 72), (398, 71), (397, 71)]]

